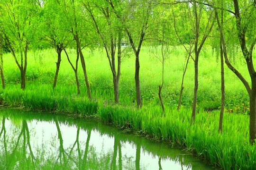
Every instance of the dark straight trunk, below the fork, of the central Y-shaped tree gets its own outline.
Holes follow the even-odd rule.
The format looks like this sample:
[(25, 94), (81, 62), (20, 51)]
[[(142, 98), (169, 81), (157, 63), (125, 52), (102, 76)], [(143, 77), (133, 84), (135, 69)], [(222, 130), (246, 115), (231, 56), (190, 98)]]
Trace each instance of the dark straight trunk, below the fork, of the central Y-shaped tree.
[(136, 54), (135, 61), (135, 85), (136, 85), (136, 100), (137, 100), (137, 108), (142, 107), (141, 95), (140, 95), (140, 82), (139, 82), (139, 56)]

